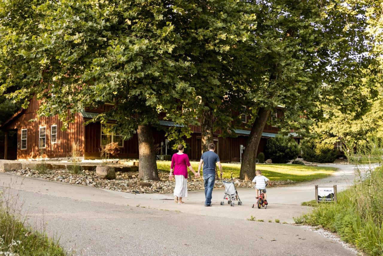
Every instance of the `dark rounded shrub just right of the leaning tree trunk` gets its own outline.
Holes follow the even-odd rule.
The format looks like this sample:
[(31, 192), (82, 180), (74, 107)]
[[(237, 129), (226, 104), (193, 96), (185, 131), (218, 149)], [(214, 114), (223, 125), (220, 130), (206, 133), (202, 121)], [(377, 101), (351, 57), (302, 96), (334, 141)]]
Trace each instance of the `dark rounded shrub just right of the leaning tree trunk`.
[(266, 155), (273, 163), (285, 164), (299, 154), (299, 145), (291, 137), (276, 136), (267, 141)]

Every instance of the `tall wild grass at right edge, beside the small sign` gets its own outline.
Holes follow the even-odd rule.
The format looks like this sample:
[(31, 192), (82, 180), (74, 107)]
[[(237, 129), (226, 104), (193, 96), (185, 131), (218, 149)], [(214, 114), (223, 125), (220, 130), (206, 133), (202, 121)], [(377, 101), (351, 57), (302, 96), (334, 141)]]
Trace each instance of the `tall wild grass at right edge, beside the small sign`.
[(349, 161), (355, 163), (357, 179), (354, 185), (338, 194), (337, 203), (319, 204), (296, 222), (322, 225), (368, 255), (383, 255), (383, 168), (380, 145), (372, 142), (357, 147), (356, 154), (347, 154)]

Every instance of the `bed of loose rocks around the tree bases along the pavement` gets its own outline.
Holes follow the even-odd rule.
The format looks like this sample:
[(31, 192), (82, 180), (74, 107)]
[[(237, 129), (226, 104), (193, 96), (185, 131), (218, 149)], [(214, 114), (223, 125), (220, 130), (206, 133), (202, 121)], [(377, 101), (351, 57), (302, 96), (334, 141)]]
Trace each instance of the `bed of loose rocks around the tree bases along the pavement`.
[[(66, 169), (47, 170), (46, 173), (41, 174), (36, 170), (22, 169), (11, 171), (19, 176), (34, 177), (45, 180), (52, 180), (57, 182), (64, 182), (70, 184), (78, 184), (83, 186), (105, 188), (115, 191), (127, 193), (173, 193), (175, 182), (169, 180), (168, 172), (159, 172), (160, 181), (139, 181), (138, 172), (116, 172), (116, 179), (104, 180), (96, 176), (95, 171), (83, 170), (79, 174), (73, 174)], [(252, 188), (254, 183), (236, 179), (234, 181), (238, 188)], [(288, 185), (294, 183), (291, 180), (273, 182), (273, 185)], [(214, 188), (223, 188), (224, 185), (221, 180), (216, 180)], [(189, 177), (188, 191), (204, 189), (203, 179)]]

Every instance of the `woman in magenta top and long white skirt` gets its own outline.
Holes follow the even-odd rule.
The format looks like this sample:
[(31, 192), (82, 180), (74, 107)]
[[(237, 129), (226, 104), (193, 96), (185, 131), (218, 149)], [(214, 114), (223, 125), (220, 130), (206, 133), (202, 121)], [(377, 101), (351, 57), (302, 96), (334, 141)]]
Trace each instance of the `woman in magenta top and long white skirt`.
[[(175, 187), (174, 187), (174, 201), (175, 203), (185, 203), (182, 201), (183, 197), (188, 196), (188, 168), (194, 173), (195, 176), (199, 176), (193, 170), (189, 162), (189, 157), (187, 154), (183, 154), (183, 145), (178, 145), (178, 153), (175, 153), (172, 157), (172, 165), (170, 166), (169, 179), (173, 179), (173, 174), (175, 178)], [(174, 173), (173, 173), (174, 169)]]

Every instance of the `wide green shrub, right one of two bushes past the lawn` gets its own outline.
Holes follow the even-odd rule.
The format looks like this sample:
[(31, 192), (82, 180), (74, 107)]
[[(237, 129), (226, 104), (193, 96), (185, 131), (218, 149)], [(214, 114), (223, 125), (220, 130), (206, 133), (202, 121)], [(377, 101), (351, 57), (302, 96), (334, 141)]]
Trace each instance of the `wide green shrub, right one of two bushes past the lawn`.
[(306, 139), (302, 143), (303, 159), (314, 163), (332, 163), (338, 155), (334, 144), (327, 144), (319, 140)]

